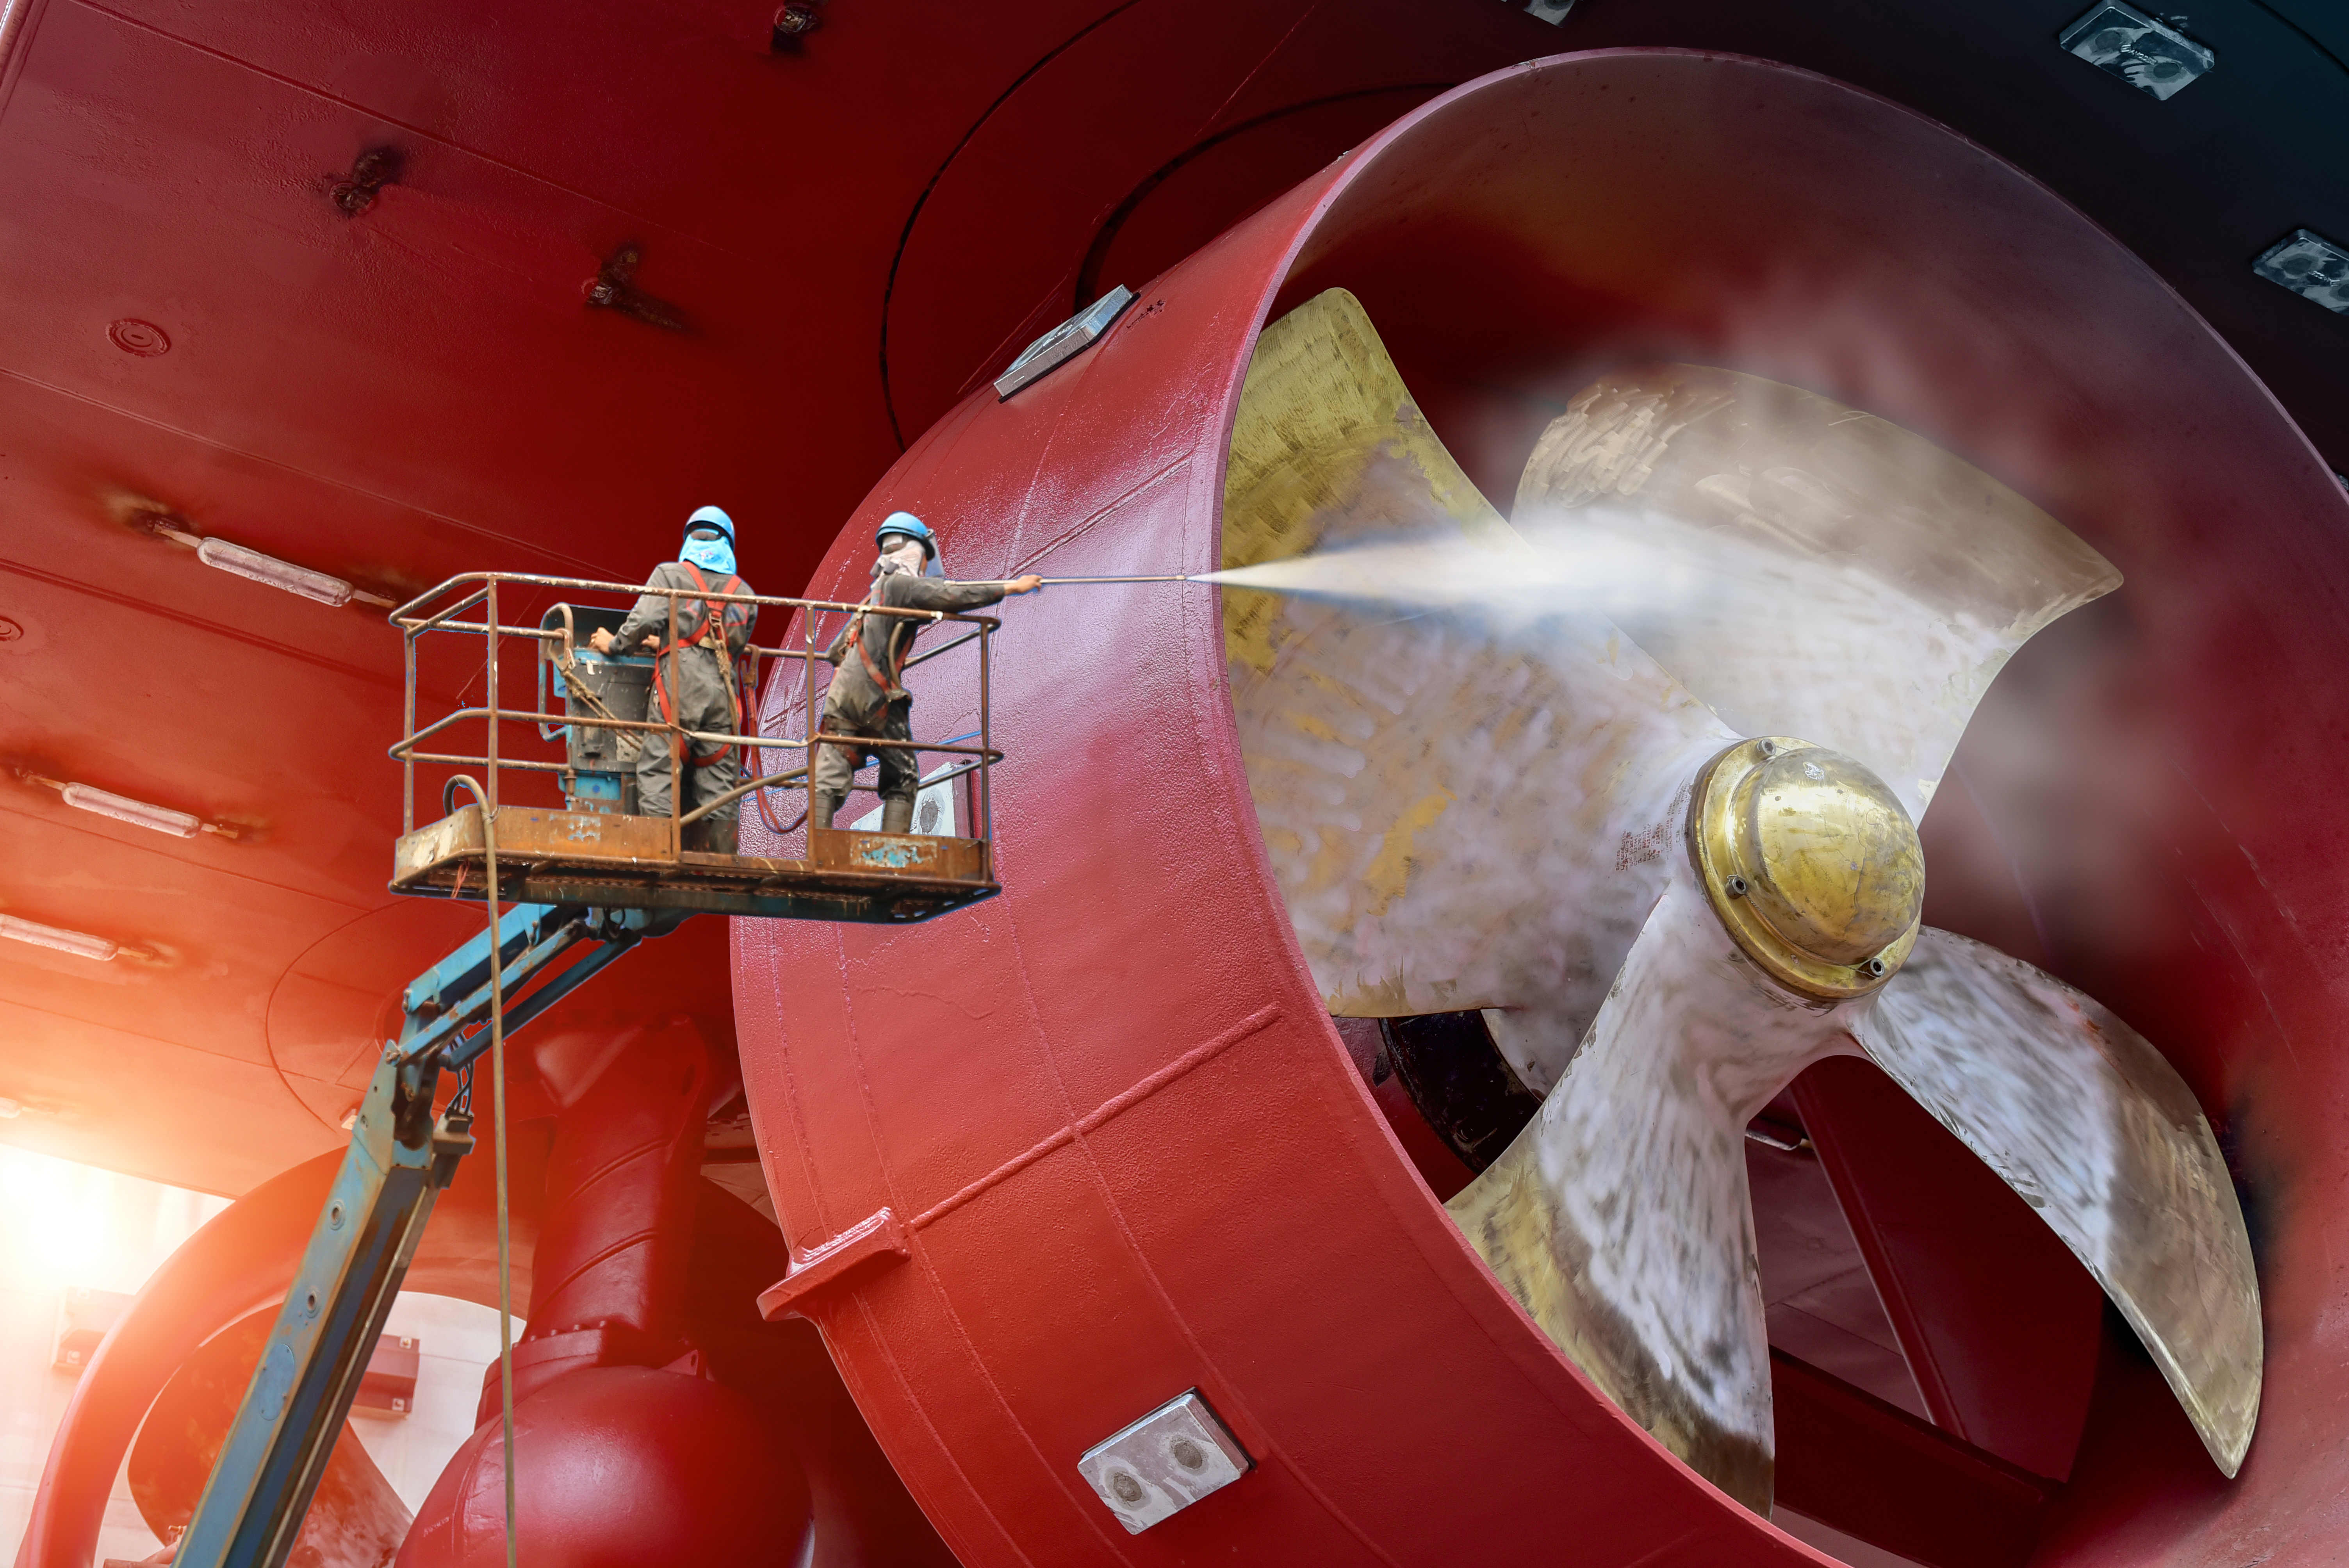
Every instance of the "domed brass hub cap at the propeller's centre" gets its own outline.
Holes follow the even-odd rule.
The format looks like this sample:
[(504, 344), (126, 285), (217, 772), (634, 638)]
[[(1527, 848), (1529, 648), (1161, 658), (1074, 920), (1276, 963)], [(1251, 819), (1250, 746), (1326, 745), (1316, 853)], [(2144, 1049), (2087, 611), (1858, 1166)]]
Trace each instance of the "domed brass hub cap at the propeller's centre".
[(1790, 991), (1865, 995), (1917, 944), (1917, 824), (1842, 751), (1783, 735), (1722, 751), (1696, 779), (1689, 852), (1729, 937)]

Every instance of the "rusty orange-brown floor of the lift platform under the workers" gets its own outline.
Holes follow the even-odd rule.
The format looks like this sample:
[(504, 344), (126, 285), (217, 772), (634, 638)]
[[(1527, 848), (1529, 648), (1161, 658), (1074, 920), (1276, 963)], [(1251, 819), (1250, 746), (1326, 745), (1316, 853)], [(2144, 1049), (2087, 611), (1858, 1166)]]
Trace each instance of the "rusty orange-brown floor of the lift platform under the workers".
[[(674, 850), (667, 817), (498, 807), (498, 899), (590, 908), (693, 908), (782, 920), (911, 922), (1001, 892), (987, 843), (813, 829), (808, 859)], [(479, 899), (482, 807), (406, 833), (392, 892)]]

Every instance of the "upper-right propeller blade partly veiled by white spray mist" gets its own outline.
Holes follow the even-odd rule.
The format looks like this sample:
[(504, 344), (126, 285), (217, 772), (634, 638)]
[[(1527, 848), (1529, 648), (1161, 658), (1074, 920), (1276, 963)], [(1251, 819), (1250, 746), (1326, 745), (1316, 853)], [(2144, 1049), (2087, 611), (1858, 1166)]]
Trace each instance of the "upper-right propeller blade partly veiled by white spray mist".
[(1997, 479), (1757, 376), (1600, 378), (1543, 432), (1515, 523), (1616, 570), (1600, 603), (1745, 735), (1867, 763), (1924, 817), (1973, 707), (2121, 575)]

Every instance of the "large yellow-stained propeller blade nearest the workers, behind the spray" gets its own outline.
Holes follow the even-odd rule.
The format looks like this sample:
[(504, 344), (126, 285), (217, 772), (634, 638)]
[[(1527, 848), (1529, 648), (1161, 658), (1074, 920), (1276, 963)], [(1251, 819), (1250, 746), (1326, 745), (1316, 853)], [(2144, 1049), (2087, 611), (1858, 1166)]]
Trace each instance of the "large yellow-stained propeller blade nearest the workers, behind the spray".
[[(1360, 303), (1264, 331), (1224, 481), (1224, 566), (1525, 542), (1421, 418)], [(1224, 589), (1231, 699), (1273, 876), (1332, 1014), (1517, 1007), (1494, 1038), (1548, 1089), (1682, 857), (1687, 779), (1734, 737), (1593, 613)]]

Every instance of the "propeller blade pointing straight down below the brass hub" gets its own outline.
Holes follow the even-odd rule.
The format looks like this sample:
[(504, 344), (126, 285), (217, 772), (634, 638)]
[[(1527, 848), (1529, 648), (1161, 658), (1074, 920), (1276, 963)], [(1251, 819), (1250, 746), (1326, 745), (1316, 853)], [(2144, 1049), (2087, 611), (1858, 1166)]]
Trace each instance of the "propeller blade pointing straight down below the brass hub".
[(1804, 1002), (1729, 941), (1684, 857), (1581, 1049), (1447, 1207), (1590, 1380), (1769, 1514), (1773, 1434), (1745, 1122), (1858, 1002)]

